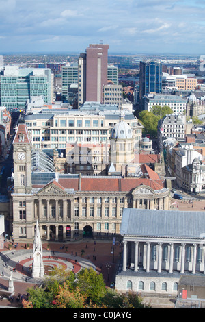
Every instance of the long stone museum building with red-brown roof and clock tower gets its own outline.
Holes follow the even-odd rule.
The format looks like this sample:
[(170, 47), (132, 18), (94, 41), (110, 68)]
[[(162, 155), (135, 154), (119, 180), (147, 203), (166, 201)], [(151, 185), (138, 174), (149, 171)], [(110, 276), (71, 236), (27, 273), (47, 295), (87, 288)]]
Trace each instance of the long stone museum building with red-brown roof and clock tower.
[[(124, 208), (169, 210), (169, 189), (146, 166), (146, 176), (83, 176), (53, 171), (31, 152), (25, 123), (14, 137), (12, 227), (15, 240), (31, 239), (38, 220), (44, 240), (120, 236)], [(44, 164), (38, 166), (36, 159)]]

